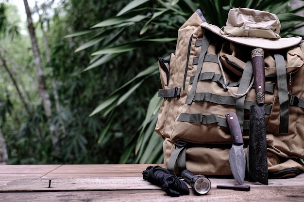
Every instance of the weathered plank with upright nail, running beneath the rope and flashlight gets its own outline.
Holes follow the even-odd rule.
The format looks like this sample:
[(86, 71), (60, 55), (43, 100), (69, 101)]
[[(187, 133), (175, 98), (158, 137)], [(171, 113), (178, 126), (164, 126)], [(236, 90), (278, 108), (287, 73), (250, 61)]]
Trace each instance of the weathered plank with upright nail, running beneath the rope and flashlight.
[[(49, 188), (51, 180), (51, 188)], [(217, 185), (236, 185), (234, 179), (211, 178), (211, 187)], [(260, 185), (245, 181), (251, 187), (270, 186), (304, 186), (304, 174), (290, 179), (269, 179), (269, 185)], [(190, 186), (189, 186), (190, 187)], [(0, 192), (30, 192), (30, 191), (77, 191), (77, 190), (134, 190), (134, 189), (160, 189), (150, 184), (142, 177), (103, 177), (103, 178), (38, 178), (19, 179), (0, 186)]]

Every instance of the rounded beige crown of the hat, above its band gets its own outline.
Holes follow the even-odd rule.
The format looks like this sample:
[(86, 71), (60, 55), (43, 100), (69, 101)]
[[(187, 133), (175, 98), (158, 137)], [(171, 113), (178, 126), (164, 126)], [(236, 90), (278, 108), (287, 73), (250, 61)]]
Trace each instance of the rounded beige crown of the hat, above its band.
[(275, 14), (250, 8), (230, 9), (226, 25), (243, 29), (271, 30), (277, 34), (281, 31), (280, 20)]

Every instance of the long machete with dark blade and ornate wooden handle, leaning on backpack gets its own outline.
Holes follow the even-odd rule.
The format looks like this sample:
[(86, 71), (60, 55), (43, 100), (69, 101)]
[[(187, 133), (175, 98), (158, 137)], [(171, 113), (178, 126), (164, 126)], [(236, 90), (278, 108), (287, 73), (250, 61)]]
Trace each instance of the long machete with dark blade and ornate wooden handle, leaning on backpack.
[(257, 104), (250, 108), (248, 172), (253, 181), (268, 185), (264, 51), (256, 48), (251, 52), (251, 56)]

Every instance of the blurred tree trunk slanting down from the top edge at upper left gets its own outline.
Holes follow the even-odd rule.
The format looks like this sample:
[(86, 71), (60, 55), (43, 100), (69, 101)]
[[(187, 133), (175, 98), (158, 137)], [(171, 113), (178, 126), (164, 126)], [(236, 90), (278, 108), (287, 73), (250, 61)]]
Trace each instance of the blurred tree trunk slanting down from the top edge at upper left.
[(31, 11), (29, 8), (28, 1), (23, 0), (23, 2), (24, 2), (26, 15), (27, 15), (28, 29), (30, 32), (31, 41), (32, 41), (32, 49), (33, 49), (33, 53), (34, 53), (34, 64), (35, 64), (36, 76), (37, 76), (37, 80), (38, 80), (38, 93), (42, 97), (45, 114), (46, 114), (46, 117), (49, 119), (51, 117), (51, 100), (50, 100), (50, 95), (47, 91), (44, 73), (42, 71), (40, 52), (39, 52), (37, 39), (36, 39), (36, 35), (35, 35), (32, 14), (31, 14)]

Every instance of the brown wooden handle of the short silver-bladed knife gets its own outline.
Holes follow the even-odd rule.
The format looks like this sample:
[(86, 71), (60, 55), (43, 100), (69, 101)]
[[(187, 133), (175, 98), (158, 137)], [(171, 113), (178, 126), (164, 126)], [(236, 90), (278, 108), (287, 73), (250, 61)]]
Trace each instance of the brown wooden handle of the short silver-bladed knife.
[(226, 120), (229, 125), (230, 133), (232, 135), (232, 143), (236, 145), (243, 144), (242, 131), (236, 113), (226, 113)]

